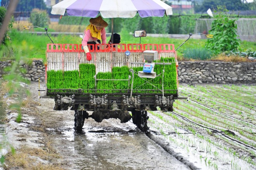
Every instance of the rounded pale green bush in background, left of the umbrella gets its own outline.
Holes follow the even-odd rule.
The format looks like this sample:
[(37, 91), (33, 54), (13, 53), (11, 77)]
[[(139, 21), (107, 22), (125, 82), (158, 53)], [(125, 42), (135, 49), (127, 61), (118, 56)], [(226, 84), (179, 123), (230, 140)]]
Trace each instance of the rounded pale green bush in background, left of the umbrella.
[(32, 13), (29, 18), (29, 22), (33, 24), (33, 26), (38, 27), (47, 27), (50, 23), (49, 15), (47, 14), (46, 10), (40, 10), (40, 9), (33, 9)]

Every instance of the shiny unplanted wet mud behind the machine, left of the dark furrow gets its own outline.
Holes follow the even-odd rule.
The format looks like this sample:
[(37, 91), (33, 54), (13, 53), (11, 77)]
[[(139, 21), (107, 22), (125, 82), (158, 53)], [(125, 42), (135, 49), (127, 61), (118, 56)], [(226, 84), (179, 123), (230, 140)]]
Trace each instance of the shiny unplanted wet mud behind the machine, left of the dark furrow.
[[(73, 117), (71, 118), (73, 119)], [(159, 145), (139, 131), (131, 121), (121, 124), (109, 119), (85, 122), (76, 133), (73, 120), (52, 134), (56, 147), (70, 169), (168, 169), (187, 170), (186, 165), (166, 153)]]

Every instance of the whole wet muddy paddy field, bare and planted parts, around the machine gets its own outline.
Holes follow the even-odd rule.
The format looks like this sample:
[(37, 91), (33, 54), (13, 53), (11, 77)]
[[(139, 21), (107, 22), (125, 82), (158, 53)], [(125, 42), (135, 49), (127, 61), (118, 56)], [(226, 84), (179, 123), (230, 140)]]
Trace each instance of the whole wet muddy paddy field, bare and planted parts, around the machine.
[[(29, 90), (38, 101), (37, 84)], [(189, 100), (175, 101), (173, 112), (149, 111), (149, 134), (131, 121), (91, 118), (77, 133), (74, 111), (53, 111), (53, 99), (35, 106), (38, 129), (52, 139), (65, 169), (256, 169), (256, 86), (180, 85), (179, 90)]]

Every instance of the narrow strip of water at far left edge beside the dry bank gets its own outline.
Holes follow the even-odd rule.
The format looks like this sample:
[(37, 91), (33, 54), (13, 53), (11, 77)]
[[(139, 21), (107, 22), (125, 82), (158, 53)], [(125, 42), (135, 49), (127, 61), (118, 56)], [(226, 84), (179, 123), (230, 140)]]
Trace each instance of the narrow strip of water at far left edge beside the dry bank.
[(3, 102), (0, 99), (0, 158), (1, 156), (6, 152), (6, 135), (5, 135), (5, 122), (2, 120), (6, 117), (5, 114), (5, 106), (3, 105)]

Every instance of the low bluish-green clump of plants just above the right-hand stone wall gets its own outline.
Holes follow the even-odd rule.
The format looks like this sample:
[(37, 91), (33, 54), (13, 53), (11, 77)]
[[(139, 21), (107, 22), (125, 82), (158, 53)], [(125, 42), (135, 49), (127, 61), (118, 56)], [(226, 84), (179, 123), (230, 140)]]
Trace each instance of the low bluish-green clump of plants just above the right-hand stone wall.
[(206, 48), (187, 48), (184, 50), (184, 58), (206, 60), (211, 58), (211, 52)]

